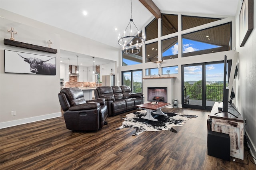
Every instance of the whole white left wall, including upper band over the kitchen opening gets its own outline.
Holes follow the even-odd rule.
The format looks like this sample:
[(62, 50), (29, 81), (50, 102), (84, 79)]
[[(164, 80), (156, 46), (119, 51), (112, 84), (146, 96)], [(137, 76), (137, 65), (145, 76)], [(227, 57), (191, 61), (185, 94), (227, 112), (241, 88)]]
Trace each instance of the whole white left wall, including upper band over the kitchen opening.
[[(60, 115), (60, 104), (58, 101), (58, 93), (60, 91), (60, 49), (113, 61), (120, 60), (119, 49), (114, 47), (3, 9), (0, 10), (0, 16), (0, 128)], [(47, 47), (46, 41), (50, 39), (53, 42), (51, 47), (58, 49), (58, 53), (51, 54), (3, 45), (3, 39), (10, 38), (10, 33), (7, 32), (7, 29), (11, 27), (14, 28), (14, 31), (18, 32), (14, 36), (16, 41)], [(56, 57), (56, 76), (4, 73), (4, 49)], [(119, 75), (119, 73), (115, 74)], [(16, 111), (16, 116), (10, 116), (11, 111), (14, 110)]]

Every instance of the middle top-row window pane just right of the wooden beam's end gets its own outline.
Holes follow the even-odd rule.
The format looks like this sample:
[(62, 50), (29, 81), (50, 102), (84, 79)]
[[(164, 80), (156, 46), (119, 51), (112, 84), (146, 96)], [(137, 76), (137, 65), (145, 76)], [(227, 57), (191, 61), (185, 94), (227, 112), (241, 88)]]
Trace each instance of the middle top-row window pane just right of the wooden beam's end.
[(178, 15), (162, 14), (162, 36), (178, 32)]

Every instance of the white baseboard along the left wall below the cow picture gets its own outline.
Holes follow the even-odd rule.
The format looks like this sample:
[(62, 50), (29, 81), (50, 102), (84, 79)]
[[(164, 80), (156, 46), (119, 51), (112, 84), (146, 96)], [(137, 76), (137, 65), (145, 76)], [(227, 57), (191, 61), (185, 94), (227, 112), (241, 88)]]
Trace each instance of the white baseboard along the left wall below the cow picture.
[(43, 120), (46, 120), (46, 119), (52, 119), (52, 118), (61, 117), (61, 116), (62, 116), (61, 112), (58, 112), (58, 113), (52, 113), (52, 114), (48, 114), (48, 115), (29, 117), (29, 118), (25, 118), (25, 119), (19, 119), (19, 120), (15, 120), (15, 121), (2, 122), (2, 123), (0, 123), (0, 129), (8, 128), (8, 127), (14, 127), (14, 126), (17, 126), (17, 125), (23, 125), (23, 124), (26, 124), (26, 123), (43, 121)]

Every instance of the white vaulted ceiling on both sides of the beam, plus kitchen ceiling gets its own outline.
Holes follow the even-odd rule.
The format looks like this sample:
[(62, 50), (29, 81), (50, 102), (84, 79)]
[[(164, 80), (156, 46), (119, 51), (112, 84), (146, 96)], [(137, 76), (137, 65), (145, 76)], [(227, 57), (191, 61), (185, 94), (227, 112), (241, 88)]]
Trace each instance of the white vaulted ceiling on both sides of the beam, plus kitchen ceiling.
[[(162, 13), (170, 11), (234, 16), (240, 0), (153, 2)], [(125, 30), (131, 15), (130, 0), (1, 0), (0, 8), (117, 48), (120, 48), (118, 34)], [(86, 16), (83, 15), (84, 11), (88, 13)], [(138, 0), (132, 0), (132, 18), (138, 29), (141, 29), (154, 16)], [(83, 65), (88, 67), (86, 64), (89, 64), (88, 59), (92, 60), (92, 56), (61, 51), (64, 63), (68, 63), (67, 58), (70, 56), (74, 60), (76, 55), (80, 56), (79, 63), (84, 62)], [(98, 60), (97, 65), (111, 62)]]

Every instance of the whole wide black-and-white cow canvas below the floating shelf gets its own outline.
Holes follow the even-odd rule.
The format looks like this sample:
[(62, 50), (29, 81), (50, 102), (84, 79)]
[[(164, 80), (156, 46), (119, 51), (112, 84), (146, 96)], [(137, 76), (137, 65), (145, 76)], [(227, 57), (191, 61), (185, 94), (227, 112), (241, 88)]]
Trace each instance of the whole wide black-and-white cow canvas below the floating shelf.
[(56, 58), (5, 49), (4, 72), (56, 75)]

